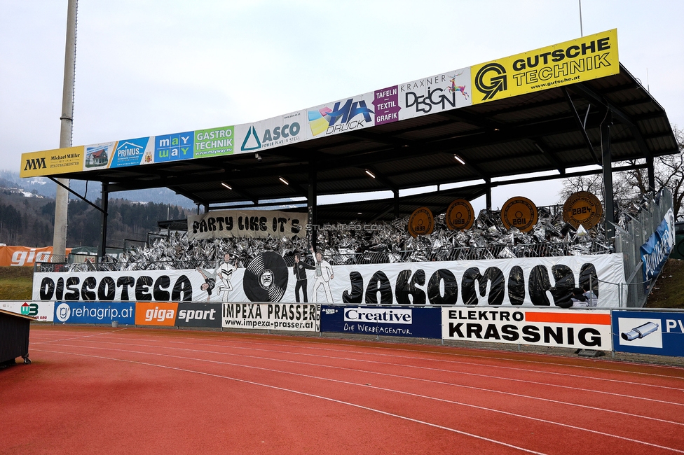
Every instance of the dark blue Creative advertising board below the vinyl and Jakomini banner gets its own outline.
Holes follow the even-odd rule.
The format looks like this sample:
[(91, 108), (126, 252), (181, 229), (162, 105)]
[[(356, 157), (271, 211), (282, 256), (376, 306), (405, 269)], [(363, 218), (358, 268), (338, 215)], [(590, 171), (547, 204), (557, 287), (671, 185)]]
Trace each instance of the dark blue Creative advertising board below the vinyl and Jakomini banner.
[(420, 307), (321, 307), (321, 332), (442, 338), (442, 310)]

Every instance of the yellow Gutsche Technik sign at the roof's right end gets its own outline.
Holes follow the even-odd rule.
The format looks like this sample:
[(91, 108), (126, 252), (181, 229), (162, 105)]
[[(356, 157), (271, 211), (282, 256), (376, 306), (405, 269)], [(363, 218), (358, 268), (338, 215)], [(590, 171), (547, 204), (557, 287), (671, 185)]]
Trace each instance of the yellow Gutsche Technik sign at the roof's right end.
[(613, 29), (471, 66), (472, 104), (617, 73), (617, 29)]

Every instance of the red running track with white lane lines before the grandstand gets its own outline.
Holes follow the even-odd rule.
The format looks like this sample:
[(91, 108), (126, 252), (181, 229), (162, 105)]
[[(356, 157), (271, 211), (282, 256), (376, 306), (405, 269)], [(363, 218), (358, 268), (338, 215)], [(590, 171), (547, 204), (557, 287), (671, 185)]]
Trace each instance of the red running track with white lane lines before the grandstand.
[(2, 454), (684, 454), (684, 369), (314, 337), (32, 327)]

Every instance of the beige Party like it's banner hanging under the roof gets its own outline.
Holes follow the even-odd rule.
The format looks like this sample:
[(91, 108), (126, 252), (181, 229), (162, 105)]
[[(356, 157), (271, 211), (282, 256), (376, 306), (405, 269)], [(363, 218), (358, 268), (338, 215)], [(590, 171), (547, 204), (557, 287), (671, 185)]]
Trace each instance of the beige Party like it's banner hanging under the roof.
[(308, 215), (285, 211), (214, 210), (188, 217), (188, 239), (306, 237)]

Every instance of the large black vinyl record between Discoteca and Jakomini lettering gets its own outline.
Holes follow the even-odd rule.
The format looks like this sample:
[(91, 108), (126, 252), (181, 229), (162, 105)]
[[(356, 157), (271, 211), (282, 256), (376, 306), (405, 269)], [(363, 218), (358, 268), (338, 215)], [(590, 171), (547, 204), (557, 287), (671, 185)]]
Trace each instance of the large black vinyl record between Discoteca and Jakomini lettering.
[(259, 254), (245, 270), (242, 288), (252, 302), (280, 302), (287, 289), (287, 265), (278, 253)]

